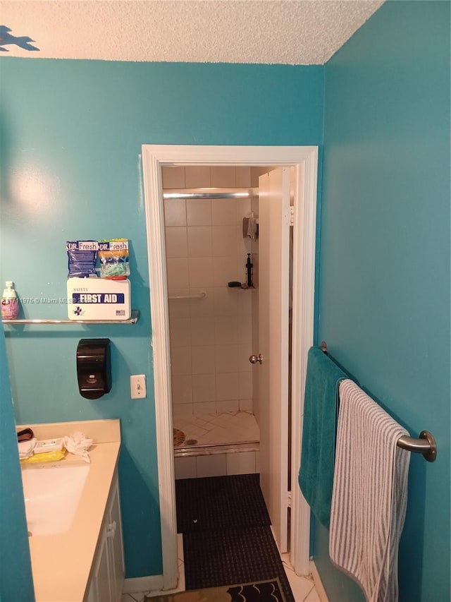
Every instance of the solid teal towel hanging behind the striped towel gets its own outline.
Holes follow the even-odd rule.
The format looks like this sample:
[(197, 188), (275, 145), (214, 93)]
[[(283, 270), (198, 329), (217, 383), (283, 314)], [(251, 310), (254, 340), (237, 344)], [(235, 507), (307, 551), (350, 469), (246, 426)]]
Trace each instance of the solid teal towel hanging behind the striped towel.
[(338, 383), (347, 375), (320, 347), (307, 356), (299, 486), (316, 518), (328, 528), (332, 500)]

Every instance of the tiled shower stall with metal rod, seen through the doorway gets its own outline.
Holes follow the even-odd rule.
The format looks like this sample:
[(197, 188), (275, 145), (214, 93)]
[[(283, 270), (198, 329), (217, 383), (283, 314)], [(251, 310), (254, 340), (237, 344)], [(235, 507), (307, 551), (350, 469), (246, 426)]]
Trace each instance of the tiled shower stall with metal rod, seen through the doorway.
[(259, 471), (258, 380), (249, 356), (258, 349), (264, 171), (163, 168), (176, 478)]

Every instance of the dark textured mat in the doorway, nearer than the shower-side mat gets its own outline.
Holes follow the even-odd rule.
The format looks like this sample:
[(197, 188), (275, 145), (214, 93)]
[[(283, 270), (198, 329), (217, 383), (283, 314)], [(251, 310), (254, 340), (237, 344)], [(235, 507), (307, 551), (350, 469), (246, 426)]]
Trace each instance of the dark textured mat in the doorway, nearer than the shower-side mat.
[(278, 577), (287, 602), (295, 602), (269, 526), (185, 533), (183, 553), (187, 590)]

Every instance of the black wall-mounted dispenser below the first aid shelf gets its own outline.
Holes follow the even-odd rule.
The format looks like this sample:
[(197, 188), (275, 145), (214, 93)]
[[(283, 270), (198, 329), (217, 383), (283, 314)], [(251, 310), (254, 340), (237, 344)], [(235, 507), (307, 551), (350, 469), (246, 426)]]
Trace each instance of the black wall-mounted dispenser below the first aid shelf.
[(111, 390), (110, 339), (80, 339), (77, 347), (78, 390), (99, 399)]

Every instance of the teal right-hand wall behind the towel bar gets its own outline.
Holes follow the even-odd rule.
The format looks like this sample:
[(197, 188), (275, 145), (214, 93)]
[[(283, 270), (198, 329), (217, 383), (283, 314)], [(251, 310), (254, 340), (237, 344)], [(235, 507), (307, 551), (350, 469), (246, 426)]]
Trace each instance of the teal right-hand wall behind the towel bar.
[[(319, 340), (412, 455), (400, 601), (450, 600), (450, 4), (387, 2), (326, 65)], [(362, 600), (316, 562), (333, 602)]]

